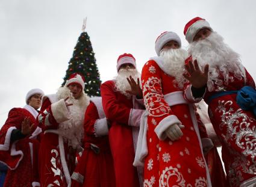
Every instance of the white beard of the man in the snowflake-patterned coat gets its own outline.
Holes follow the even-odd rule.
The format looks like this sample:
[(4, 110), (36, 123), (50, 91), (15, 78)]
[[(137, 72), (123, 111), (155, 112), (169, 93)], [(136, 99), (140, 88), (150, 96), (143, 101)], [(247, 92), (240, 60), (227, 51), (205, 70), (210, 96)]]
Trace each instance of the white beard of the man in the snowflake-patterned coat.
[(162, 49), (164, 72), (175, 78), (178, 87), (183, 88), (187, 80), (184, 78), (184, 64), (189, 54), (184, 49)]

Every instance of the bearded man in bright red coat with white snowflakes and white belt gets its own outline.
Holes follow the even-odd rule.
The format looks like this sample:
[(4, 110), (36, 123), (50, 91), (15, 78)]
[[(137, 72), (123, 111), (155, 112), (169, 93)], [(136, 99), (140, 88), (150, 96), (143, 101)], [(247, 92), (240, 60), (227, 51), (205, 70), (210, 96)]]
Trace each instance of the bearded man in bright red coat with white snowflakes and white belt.
[(148, 113), (144, 186), (211, 186), (195, 108), (184, 99), (188, 54), (175, 32), (163, 32), (155, 41), (155, 51), (158, 57), (142, 70)]

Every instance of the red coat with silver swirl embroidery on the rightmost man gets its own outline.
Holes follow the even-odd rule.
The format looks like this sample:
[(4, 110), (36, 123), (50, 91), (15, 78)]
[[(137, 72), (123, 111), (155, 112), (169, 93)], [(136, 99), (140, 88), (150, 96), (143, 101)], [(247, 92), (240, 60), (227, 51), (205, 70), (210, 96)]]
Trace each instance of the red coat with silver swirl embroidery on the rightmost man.
[[(240, 90), (245, 85), (255, 88), (254, 80), (246, 71), (246, 82), (236, 78), (228, 85), (217, 86), (204, 95), (205, 102), (218, 91)], [(220, 79), (223, 79), (220, 76)], [(222, 143), (222, 159), (230, 186), (256, 183), (255, 115), (244, 111), (236, 103), (237, 94), (217, 97), (208, 102), (208, 114), (214, 130)]]

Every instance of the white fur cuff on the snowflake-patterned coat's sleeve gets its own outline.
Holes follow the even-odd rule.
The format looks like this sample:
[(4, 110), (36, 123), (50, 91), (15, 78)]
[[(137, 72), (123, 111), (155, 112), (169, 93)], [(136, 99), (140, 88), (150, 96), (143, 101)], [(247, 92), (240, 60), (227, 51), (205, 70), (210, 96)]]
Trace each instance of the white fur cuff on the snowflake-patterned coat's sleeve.
[(168, 115), (167, 117), (163, 118), (163, 120), (158, 123), (157, 127), (155, 127), (155, 133), (157, 134), (158, 138), (160, 140), (166, 139), (167, 135), (165, 130), (175, 123), (181, 124), (181, 121), (178, 120), (176, 115)]

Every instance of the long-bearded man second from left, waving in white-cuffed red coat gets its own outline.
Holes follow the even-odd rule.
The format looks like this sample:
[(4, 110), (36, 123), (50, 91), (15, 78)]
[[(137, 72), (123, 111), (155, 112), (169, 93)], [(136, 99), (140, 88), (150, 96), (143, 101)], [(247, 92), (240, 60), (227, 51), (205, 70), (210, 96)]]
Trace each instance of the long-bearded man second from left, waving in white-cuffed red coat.
[(83, 140), (84, 113), (89, 97), (84, 93), (84, 77), (73, 73), (56, 94), (43, 97), (38, 116), (43, 136), (39, 150), (42, 186), (71, 186), (76, 150)]

